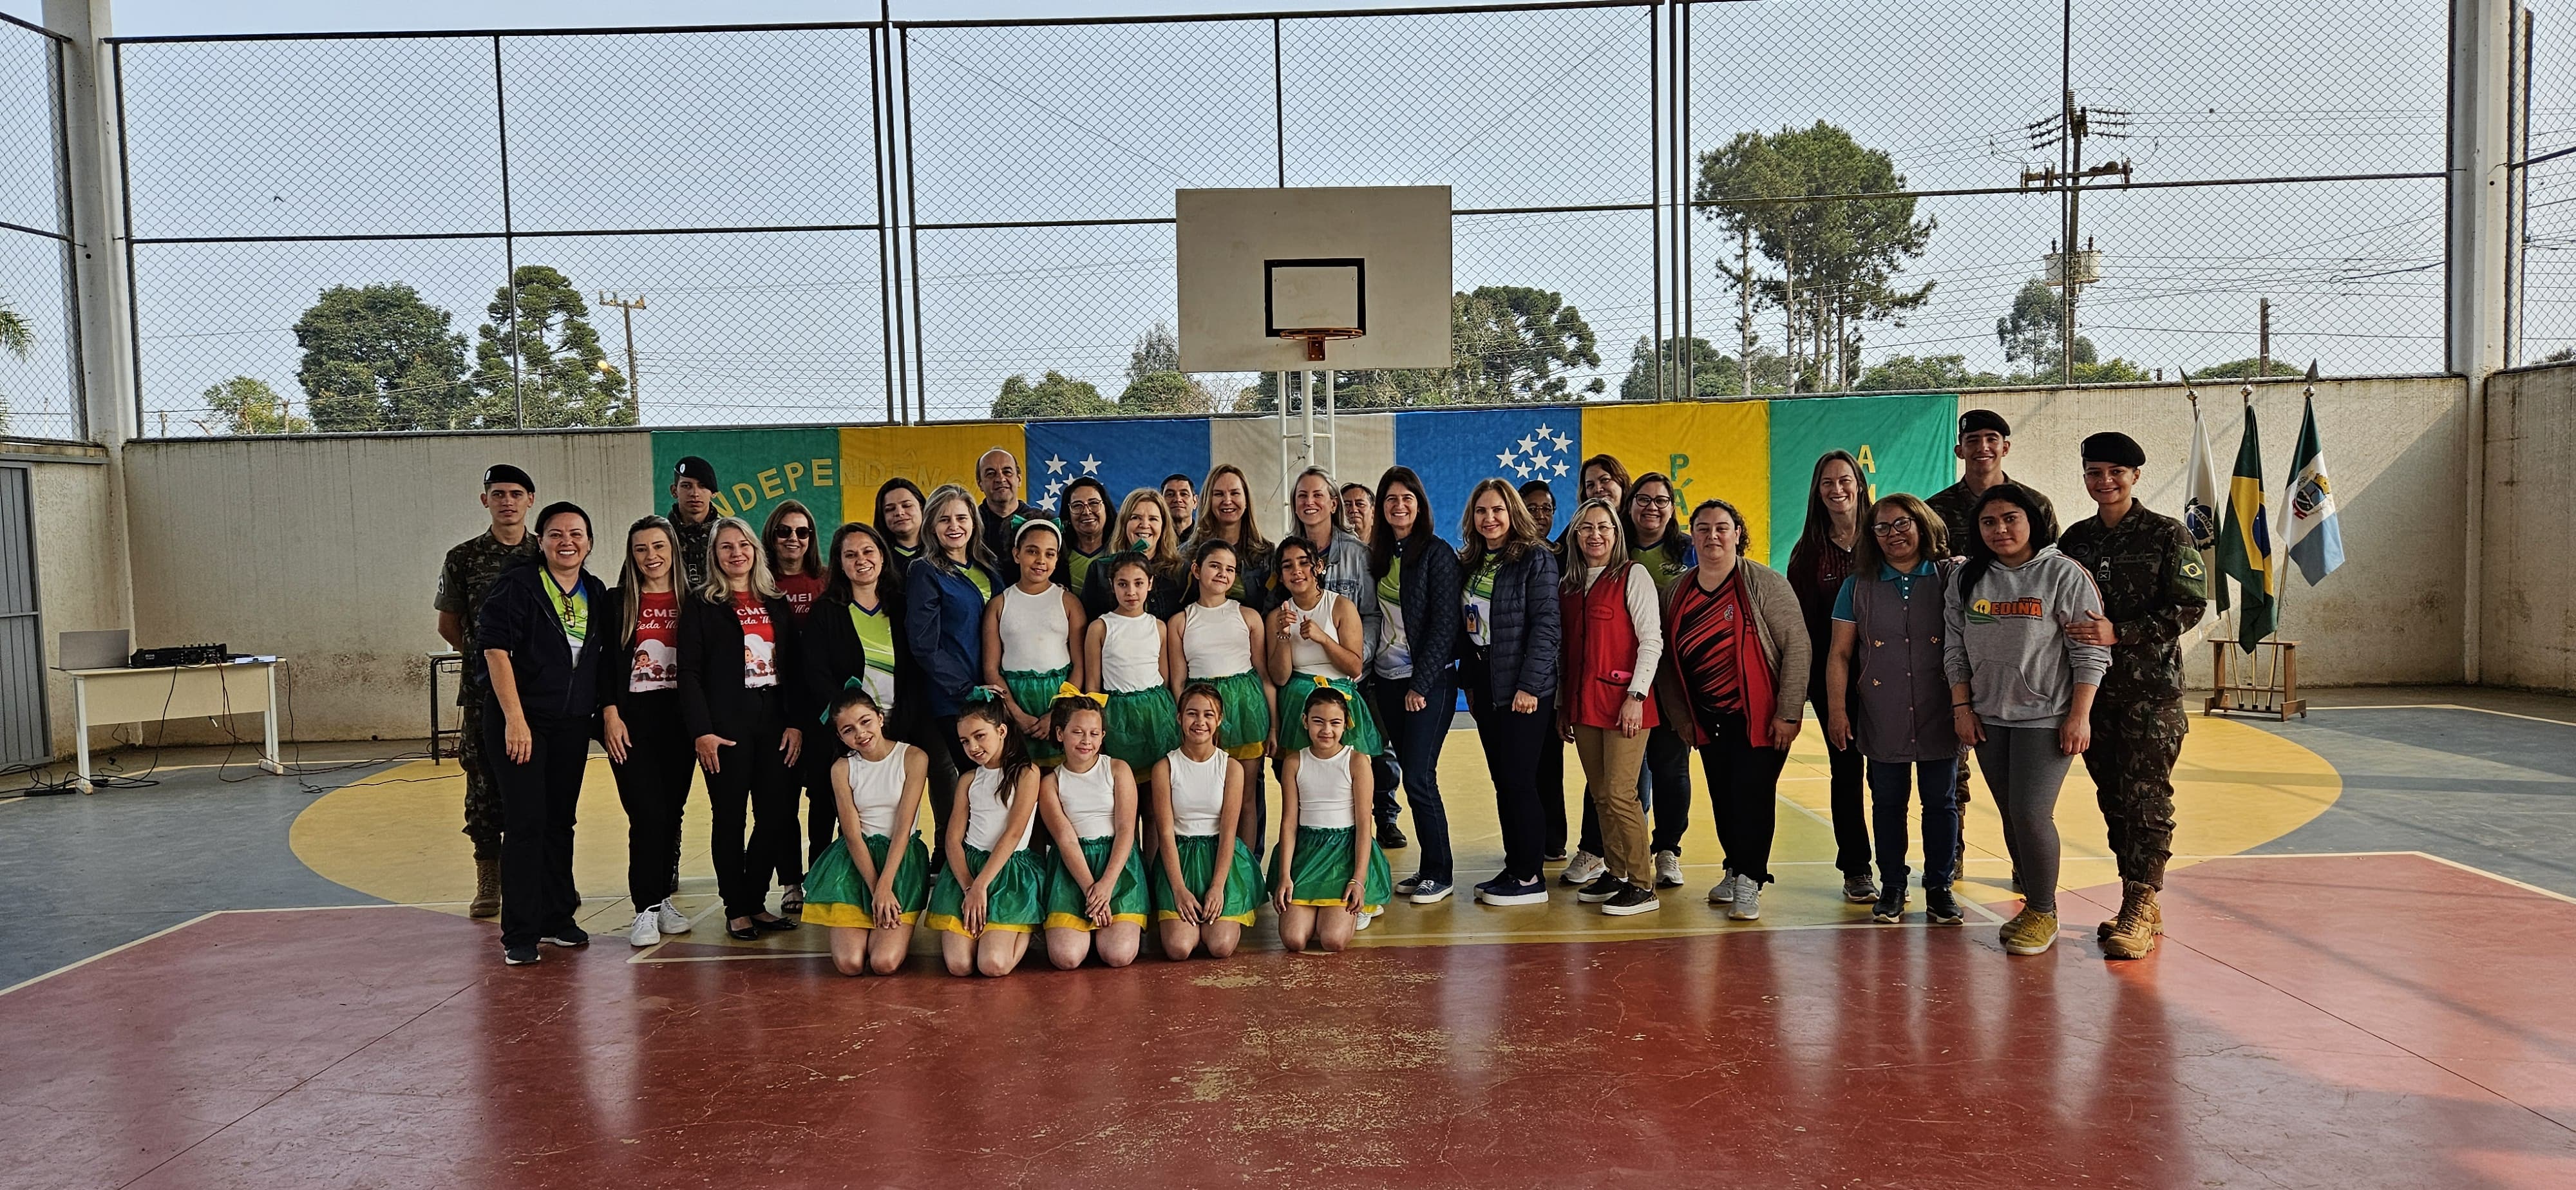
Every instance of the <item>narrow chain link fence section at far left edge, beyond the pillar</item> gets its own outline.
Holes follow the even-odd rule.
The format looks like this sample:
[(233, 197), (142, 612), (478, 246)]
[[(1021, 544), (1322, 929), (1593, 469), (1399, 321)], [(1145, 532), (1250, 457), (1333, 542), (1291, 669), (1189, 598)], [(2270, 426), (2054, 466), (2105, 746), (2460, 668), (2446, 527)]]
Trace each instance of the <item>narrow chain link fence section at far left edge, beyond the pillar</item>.
[(88, 435), (64, 41), (0, 15), (0, 438)]

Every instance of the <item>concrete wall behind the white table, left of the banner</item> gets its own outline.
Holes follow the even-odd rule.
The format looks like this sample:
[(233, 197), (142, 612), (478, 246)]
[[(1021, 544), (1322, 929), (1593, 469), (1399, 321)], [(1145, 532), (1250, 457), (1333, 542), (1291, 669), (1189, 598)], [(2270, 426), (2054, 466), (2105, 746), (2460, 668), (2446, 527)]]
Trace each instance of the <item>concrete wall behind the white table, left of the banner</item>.
[[(430, 595), (448, 546), (489, 525), (487, 464), (526, 469), (538, 505), (582, 505), (608, 582), (654, 500), (641, 430), (137, 440), (124, 461), (134, 639), (286, 657), (278, 695), (301, 739), (428, 734), (428, 654), (446, 649)], [(170, 724), (167, 739), (224, 732)]]

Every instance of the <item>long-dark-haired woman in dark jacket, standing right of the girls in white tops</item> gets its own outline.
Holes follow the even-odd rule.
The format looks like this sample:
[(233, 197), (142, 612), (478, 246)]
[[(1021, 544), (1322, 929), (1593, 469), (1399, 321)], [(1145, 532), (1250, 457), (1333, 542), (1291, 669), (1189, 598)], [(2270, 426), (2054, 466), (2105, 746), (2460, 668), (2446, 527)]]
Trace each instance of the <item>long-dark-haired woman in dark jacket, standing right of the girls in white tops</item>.
[[(1458, 677), (1458, 554), (1432, 533), (1432, 500), (1412, 466), (1378, 477), (1376, 528), (1368, 533), (1368, 572), (1378, 580), (1378, 657), (1368, 667), (1368, 695), (1378, 726), (1396, 752), (1404, 801), (1414, 806), (1422, 865), (1396, 881), (1414, 904), (1448, 899), (1453, 868), (1448, 809), (1440, 804), (1440, 744), (1448, 739)], [(1391, 786), (1391, 783), (1388, 783)], [(1396, 822), (1396, 791), (1378, 786), (1378, 824)]]

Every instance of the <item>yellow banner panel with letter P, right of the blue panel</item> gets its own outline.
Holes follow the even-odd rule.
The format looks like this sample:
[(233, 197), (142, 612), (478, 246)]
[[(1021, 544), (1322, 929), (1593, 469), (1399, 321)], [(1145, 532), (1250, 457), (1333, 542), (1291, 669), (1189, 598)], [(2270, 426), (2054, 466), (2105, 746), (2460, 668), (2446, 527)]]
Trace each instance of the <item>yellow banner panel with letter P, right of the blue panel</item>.
[[(1744, 554), (1767, 559), (1777, 536), (1770, 497), (1770, 410), (1772, 402), (1592, 404), (1584, 407), (1584, 453), (1615, 456), (1631, 477), (1646, 471), (1672, 477), (1677, 518), (1687, 518), (1700, 500), (1736, 505), (1747, 528)], [(1806, 469), (1798, 474), (1806, 477)], [(1795, 525), (1788, 536), (1795, 541)]]

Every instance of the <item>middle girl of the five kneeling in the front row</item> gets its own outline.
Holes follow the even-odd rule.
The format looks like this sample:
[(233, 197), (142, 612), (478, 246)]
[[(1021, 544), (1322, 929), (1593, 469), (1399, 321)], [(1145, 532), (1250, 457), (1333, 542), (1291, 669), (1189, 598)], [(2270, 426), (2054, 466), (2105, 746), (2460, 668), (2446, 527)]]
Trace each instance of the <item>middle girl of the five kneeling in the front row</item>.
[(1056, 840), (1046, 873), (1046, 961), (1059, 971), (1100, 950), (1128, 966), (1144, 945), (1144, 860), (1136, 855), (1136, 773), (1100, 752), (1108, 719), (1100, 695), (1066, 685), (1056, 693), (1056, 744), (1064, 762), (1038, 783), (1038, 814)]

